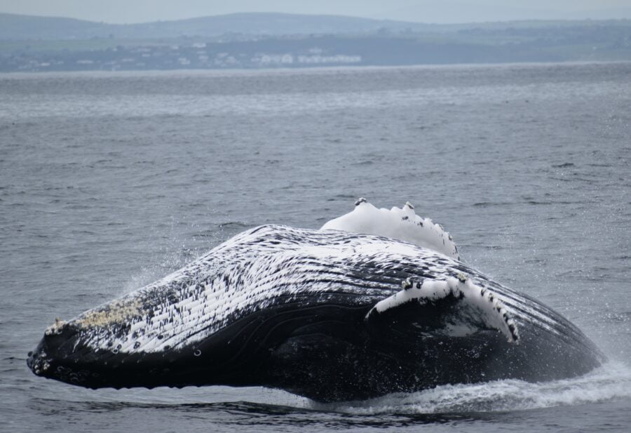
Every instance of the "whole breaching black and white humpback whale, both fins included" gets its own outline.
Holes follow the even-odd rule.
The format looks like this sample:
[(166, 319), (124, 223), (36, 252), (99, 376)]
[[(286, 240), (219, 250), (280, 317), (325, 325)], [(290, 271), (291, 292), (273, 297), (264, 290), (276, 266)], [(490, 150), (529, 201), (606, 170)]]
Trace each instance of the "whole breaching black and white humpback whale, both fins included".
[(360, 199), (323, 229), (249, 229), (57, 320), (27, 364), (90, 388), (263, 386), (341, 401), (569, 378), (603, 361), (557, 312), (458, 260), (449, 234), (412, 205)]

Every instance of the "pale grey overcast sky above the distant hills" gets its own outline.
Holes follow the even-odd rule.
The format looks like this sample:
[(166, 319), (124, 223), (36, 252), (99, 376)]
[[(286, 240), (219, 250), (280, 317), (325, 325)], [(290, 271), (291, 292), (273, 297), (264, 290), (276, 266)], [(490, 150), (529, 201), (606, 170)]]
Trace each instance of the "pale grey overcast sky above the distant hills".
[(631, 0), (0, 0), (0, 12), (118, 23), (179, 20), (235, 12), (472, 22), (631, 18)]

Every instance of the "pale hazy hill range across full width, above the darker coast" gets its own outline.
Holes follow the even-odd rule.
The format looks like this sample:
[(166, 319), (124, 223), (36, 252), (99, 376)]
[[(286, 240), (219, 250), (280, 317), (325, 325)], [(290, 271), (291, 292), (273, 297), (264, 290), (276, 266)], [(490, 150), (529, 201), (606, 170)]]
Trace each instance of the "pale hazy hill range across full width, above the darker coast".
[(502, 31), (506, 29), (546, 29), (568, 27), (619, 27), (629, 20), (529, 20), (426, 24), (392, 20), (369, 20), (340, 15), (299, 15), (291, 13), (233, 13), (188, 20), (156, 21), (138, 24), (107, 24), (74, 18), (38, 17), (0, 13), (0, 41), (86, 40), (86, 39), (170, 39), (179, 37), (216, 38), (224, 35), (308, 35), (365, 34), (372, 32), (412, 32), (446, 34), (466, 29)]

